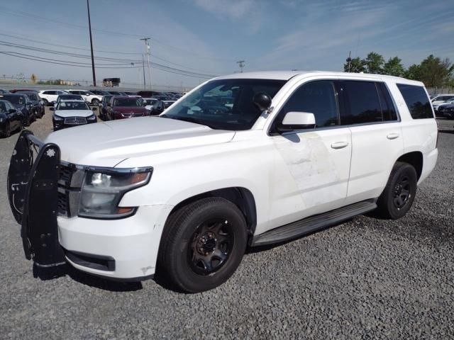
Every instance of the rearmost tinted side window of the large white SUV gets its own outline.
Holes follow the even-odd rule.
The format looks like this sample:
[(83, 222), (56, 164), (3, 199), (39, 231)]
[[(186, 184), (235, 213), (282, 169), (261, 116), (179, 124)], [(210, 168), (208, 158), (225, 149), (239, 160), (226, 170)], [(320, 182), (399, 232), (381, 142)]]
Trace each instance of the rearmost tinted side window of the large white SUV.
[(433, 118), (431, 103), (422, 86), (397, 84), (397, 87), (409, 108), (411, 118)]

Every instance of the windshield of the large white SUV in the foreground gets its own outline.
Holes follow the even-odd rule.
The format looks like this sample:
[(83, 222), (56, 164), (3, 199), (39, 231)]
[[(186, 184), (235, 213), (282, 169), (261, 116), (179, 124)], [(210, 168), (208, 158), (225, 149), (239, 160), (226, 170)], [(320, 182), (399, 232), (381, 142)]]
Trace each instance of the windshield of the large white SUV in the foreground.
[(193, 91), (170, 106), (164, 118), (187, 120), (220, 130), (249, 130), (260, 116), (253, 97), (265, 93), (271, 98), (285, 84), (271, 79), (219, 79)]

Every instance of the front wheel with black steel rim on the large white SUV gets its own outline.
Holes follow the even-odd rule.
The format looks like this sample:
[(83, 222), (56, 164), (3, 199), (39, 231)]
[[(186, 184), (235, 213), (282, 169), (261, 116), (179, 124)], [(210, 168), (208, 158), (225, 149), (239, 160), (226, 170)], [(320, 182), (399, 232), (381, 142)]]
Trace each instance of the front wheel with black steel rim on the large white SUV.
[(158, 267), (178, 290), (210, 290), (236, 271), (247, 242), (245, 218), (236, 205), (223, 198), (204, 198), (167, 219)]

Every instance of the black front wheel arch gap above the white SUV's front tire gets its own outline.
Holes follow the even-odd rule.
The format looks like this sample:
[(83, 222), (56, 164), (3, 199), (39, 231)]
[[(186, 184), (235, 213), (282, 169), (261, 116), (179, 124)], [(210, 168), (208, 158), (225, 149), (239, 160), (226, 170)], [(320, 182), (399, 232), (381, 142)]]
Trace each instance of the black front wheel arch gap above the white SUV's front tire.
[(209, 197), (224, 198), (236, 205), (245, 217), (246, 225), (248, 227), (248, 236), (250, 237), (254, 234), (255, 227), (257, 227), (257, 208), (255, 206), (255, 198), (249, 189), (240, 186), (215, 189), (186, 198), (175, 205), (175, 207), (170, 211), (169, 216), (196, 200)]

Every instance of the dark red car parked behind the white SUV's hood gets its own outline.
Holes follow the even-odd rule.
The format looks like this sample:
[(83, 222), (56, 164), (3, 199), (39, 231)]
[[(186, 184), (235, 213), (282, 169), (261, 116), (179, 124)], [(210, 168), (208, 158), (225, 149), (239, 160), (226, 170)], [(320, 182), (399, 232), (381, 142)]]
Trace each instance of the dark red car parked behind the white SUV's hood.
[(150, 112), (143, 106), (143, 100), (140, 97), (114, 96), (107, 103), (107, 120), (144, 117), (145, 115), (150, 115)]

